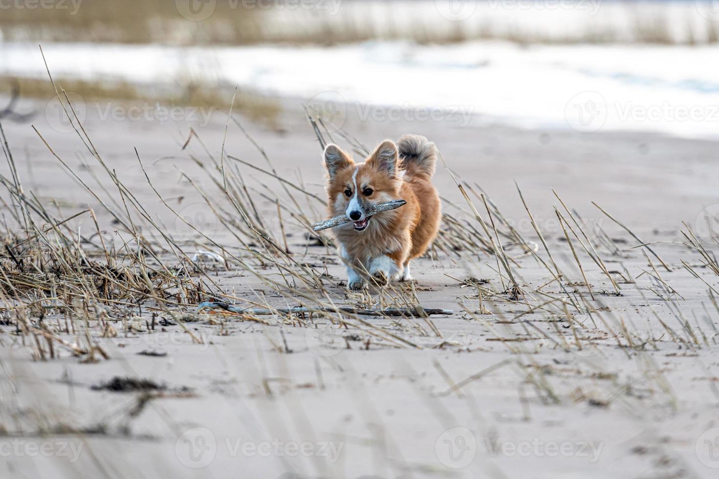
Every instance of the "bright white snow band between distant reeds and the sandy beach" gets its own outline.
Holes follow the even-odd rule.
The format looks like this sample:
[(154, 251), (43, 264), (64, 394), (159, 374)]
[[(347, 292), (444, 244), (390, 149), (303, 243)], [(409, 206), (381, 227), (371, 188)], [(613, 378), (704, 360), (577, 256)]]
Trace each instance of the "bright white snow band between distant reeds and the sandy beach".
[[(294, 98), (359, 102), (475, 121), (719, 139), (719, 47), (505, 42), (338, 47), (44, 45), (55, 78), (193, 79)], [(0, 45), (0, 75), (46, 78), (37, 45)], [(454, 117), (452, 111), (455, 111)], [(369, 113), (367, 113), (369, 112)], [(444, 116), (443, 116), (444, 114)]]

